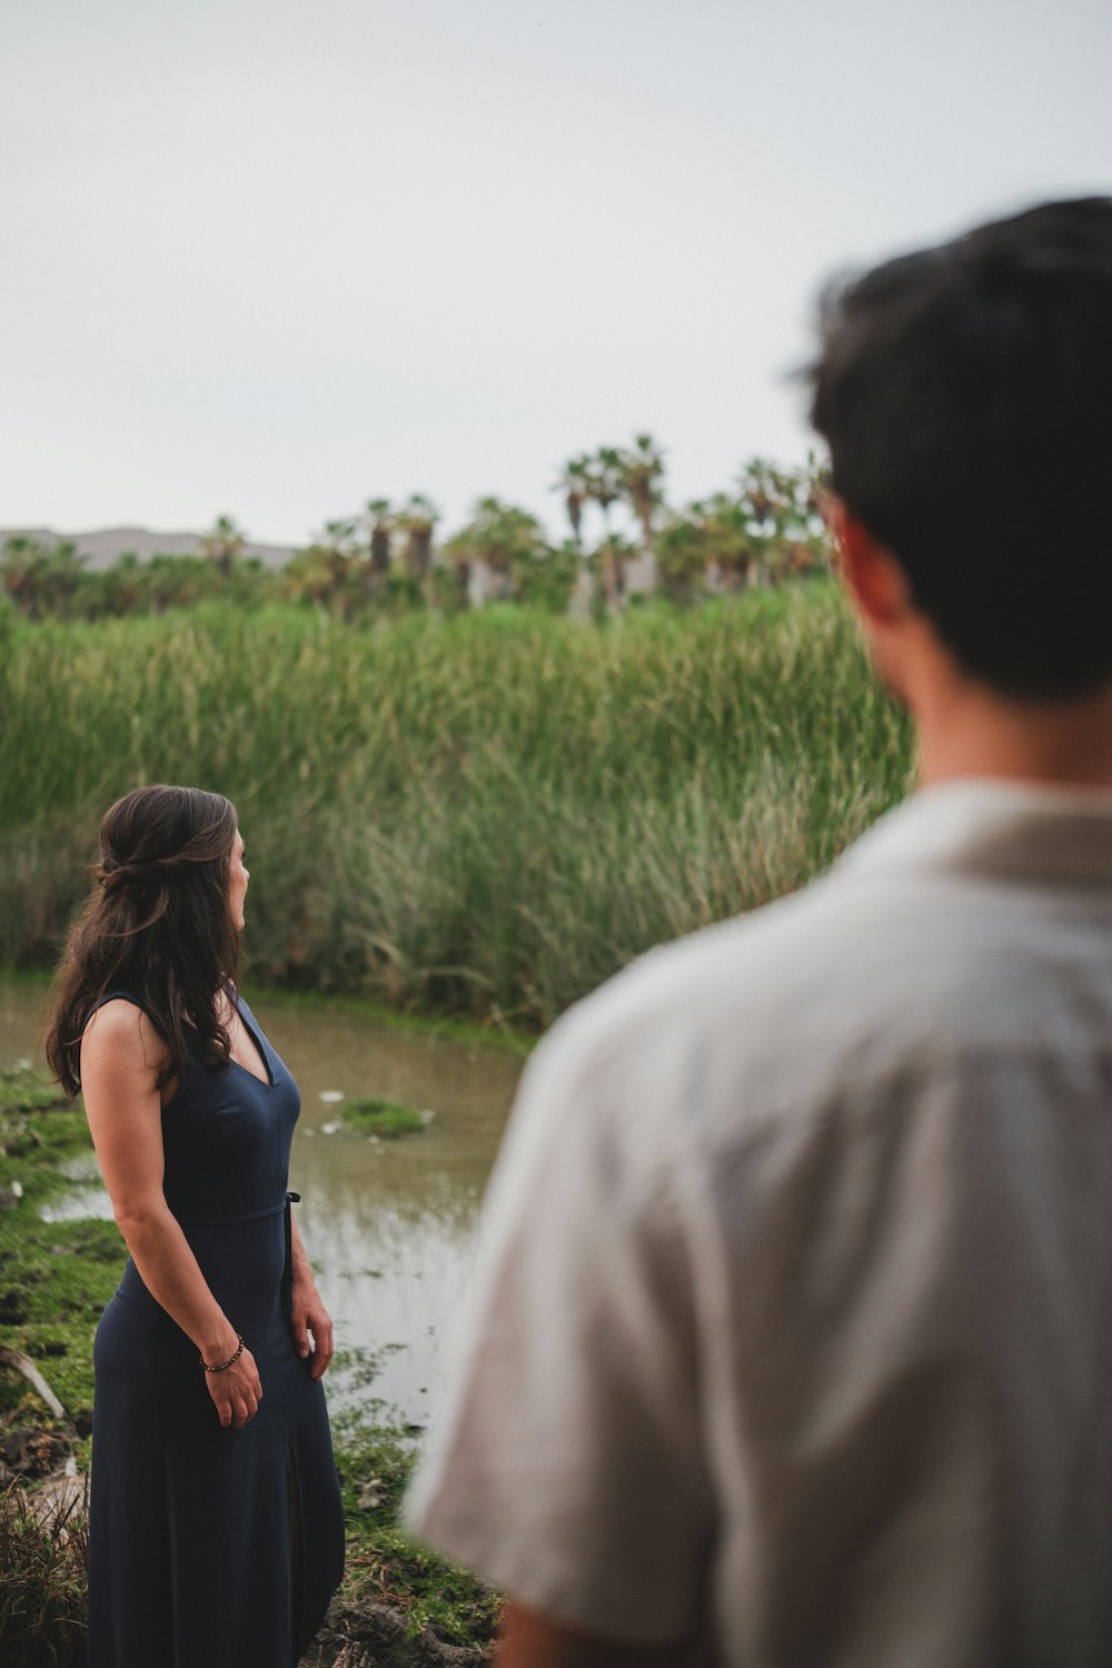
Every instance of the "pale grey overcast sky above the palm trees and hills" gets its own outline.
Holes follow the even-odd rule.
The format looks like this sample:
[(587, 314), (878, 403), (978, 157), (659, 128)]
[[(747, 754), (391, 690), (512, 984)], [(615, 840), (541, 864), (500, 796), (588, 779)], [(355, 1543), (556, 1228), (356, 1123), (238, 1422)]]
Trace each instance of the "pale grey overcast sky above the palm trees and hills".
[(0, 525), (800, 460), (822, 279), (1112, 190), (1110, 63), (1109, 0), (0, 0)]

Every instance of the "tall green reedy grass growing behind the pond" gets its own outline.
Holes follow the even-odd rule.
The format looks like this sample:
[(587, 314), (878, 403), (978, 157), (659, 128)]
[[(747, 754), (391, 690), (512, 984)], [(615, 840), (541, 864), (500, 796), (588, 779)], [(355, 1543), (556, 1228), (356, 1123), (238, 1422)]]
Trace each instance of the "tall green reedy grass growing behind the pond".
[(0, 652), (0, 959), (57, 952), (103, 809), (232, 797), (258, 982), (547, 1022), (635, 954), (822, 869), (910, 736), (834, 587), (609, 626), (198, 609)]

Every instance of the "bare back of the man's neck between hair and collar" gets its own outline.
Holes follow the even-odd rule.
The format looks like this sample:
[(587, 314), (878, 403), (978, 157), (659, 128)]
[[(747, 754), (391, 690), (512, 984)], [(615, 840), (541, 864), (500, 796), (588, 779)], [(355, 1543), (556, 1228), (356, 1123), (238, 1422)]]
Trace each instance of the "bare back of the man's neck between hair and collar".
[(945, 681), (915, 704), (924, 787), (960, 776), (1112, 787), (1112, 686), (1059, 702)]

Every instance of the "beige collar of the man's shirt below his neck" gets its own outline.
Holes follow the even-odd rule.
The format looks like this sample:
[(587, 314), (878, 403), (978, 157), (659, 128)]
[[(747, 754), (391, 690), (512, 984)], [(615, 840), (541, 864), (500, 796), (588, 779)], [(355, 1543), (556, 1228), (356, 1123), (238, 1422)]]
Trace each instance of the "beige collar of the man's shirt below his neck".
[(989, 777), (939, 782), (880, 817), (839, 869), (1112, 886), (1112, 791)]

